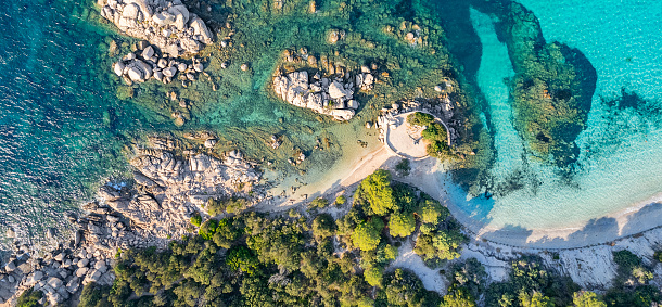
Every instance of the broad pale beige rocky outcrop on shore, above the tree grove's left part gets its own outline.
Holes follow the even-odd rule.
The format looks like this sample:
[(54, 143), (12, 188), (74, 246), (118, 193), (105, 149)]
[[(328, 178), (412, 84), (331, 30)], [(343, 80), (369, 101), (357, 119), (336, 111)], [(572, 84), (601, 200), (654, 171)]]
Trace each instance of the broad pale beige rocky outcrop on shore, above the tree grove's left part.
[[(136, 167), (136, 193), (111, 186), (100, 190), (104, 203), (144, 235), (179, 238), (186, 233), (191, 216), (204, 214), (208, 199), (233, 196), (240, 187), (255, 186), (260, 178), (255, 165), (239, 151), (222, 158), (195, 151), (176, 156), (174, 142), (161, 138), (153, 141), (153, 148), (138, 149), (130, 162)], [(259, 201), (260, 193), (254, 193), (254, 197)]]

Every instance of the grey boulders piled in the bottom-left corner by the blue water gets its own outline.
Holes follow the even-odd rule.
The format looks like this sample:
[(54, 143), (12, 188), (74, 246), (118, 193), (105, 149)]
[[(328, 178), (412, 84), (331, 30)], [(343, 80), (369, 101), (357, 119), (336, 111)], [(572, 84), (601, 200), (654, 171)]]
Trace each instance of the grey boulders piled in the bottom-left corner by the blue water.
[(27, 245), (16, 246), (9, 261), (0, 268), (0, 303), (12, 304), (21, 293), (34, 289), (44, 294), (39, 302), (41, 305), (56, 306), (79, 295), (85, 284), (113, 283), (114, 251), (96, 243), (93, 235), (106, 227), (128, 230), (126, 223), (120, 217), (96, 213), (82, 218), (69, 216), (69, 221), (77, 225), (78, 230), (66, 247), (60, 245), (39, 257)]

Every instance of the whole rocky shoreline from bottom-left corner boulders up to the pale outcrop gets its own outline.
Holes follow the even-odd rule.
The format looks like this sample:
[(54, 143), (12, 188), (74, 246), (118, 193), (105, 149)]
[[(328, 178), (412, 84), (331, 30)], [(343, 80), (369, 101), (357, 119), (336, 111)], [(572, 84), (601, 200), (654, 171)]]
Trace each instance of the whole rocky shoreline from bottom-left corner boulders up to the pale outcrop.
[(14, 304), (28, 289), (43, 292), (44, 305), (73, 302), (88, 283), (113, 283), (117, 253), (162, 250), (171, 239), (190, 234), (192, 216), (208, 217), (204, 206), (209, 199), (249, 197), (250, 190), (253, 204), (265, 200), (257, 164), (240, 151), (214, 157), (194, 150), (175, 154), (180, 150), (176, 141), (162, 137), (150, 138), (150, 148), (137, 148), (130, 161), (133, 187), (101, 187), (100, 200), (82, 207), (86, 215), (68, 216), (77, 229), (68, 243), (43, 253), (16, 241), (0, 269), (0, 304)]

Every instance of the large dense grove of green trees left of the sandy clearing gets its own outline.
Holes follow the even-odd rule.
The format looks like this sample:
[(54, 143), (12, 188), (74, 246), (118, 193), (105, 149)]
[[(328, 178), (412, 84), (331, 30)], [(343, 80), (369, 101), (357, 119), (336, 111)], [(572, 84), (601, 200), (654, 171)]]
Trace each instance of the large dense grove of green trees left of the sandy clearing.
[[(378, 215), (373, 208), (385, 197), (389, 209)], [(458, 231), (457, 225), (445, 210), (425, 194), (391, 182), (389, 171), (378, 170), (359, 186), (349, 212), (338, 220), (324, 213), (310, 219), (243, 213), (201, 221), (198, 234), (173, 241), (165, 251), (119, 251), (112, 289), (88, 284), (81, 304), (441, 306), (442, 297), (427, 291), (413, 273), (385, 268), (398, 255), (398, 240), (416, 233), (418, 225), (432, 228), (430, 238), (454, 238), (447, 233)], [(420, 212), (431, 217), (420, 221)], [(384, 231), (385, 221), (390, 231)], [(338, 252), (332, 239), (344, 252)], [(443, 248), (455, 253), (444, 256), (451, 259), (459, 245)], [(447, 306), (473, 302), (472, 277), (466, 274), (462, 287), (444, 300)]]

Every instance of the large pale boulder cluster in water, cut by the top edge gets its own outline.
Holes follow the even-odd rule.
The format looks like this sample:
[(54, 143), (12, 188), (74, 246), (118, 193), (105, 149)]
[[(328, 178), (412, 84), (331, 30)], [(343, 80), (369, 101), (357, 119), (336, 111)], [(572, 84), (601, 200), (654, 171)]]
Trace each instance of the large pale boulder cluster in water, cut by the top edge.
[(212, 31), (180, 0), (101, 0), (101, 15), (128, 36), (145, 39), (170, 57), (194, 54)]

